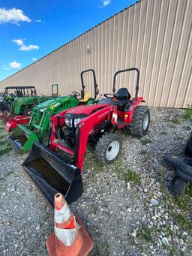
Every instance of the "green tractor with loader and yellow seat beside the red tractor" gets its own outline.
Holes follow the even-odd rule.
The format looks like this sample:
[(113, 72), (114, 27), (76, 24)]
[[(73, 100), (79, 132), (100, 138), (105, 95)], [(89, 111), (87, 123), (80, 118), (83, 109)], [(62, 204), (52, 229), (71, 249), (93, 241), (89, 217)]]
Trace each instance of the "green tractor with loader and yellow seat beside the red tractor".
[[(83, 74), (92, 72), (94, 80), (95, 95), (92, 98), (91, 92), (85, 93), (85, 84)], [(82, 90), (79, 92), (72, 92), (72, 95), (58, 98), (50, 98), (38, 104), (32, 109), (31, 119), (27, 125), (17, 125), (16, 131), (9, 137), (9, 141), (17, 152), (28, 152), (34, 141), (39, 143), (46, 143), (49, 131), (49, 121), (51, 116), (68, 110), (71, 107), (76, 107), (79, 104), (94, 104), (98, 102), (96, 98), (98, 95), (98, 84), (96, 82), (95, 71), (89, 69), (81, 73)], [(78, 98), (80, 97), (80, 98)]]

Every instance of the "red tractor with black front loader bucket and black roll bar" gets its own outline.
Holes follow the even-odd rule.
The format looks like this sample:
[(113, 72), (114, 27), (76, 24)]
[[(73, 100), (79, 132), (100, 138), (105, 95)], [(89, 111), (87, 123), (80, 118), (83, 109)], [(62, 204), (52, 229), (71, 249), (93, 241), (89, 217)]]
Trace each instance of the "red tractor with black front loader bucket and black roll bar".
[[(136, 93), (131, 98), (128, 89), (116, 91), (118, 74), (136, 71)], [(68, 203), (77, 200), (83, 193), (81, 173), (87, 143), (94, 142), (95, 157), (110, 164), (121, 152), (121, 137), (117, 131), (129, 131), (142, 137), (148, 131), (150, 112), (145, 102), (138, 97), (139, 70), (128, 68), (115, 73), (113, 93), (105, 94), (97, 104), (80, 105), (62, 111), (51, 119), (48, 147), (34, 143), (23, 162), (23, 168), (40, 188), (50, 204), (58, 191)]]

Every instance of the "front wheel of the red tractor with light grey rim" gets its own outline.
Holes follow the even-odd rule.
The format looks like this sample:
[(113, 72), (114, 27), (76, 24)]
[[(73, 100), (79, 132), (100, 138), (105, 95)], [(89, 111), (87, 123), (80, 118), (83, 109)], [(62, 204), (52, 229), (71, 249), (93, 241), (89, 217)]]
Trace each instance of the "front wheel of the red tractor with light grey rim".
[(98, 140), (97, 146), (95, 146), (95, 157), (98, 158), (99, 161), (110, 164), (118, 158), (118, 155), (121, 152), (121, 147), (122, 141), (118, 134), (104, 134)]

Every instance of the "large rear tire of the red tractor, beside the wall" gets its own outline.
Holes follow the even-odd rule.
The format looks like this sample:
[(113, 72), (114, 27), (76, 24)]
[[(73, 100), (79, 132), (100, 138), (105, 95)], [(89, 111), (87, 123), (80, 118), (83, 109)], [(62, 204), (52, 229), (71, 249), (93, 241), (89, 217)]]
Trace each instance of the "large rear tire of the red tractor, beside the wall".
[[(148, 121), (145, 121), (146, 115), (148, 116)], [(144, 122), (148, 122), (147, 125), (144, 125)], [(138, 106), (135, 108), (132, 122), (130, 123), (130, 125), (127, 126), (127, 128), (131, 135), (142, 137), (147, 133), (149, 123), (150, 111), (148, 107)]]

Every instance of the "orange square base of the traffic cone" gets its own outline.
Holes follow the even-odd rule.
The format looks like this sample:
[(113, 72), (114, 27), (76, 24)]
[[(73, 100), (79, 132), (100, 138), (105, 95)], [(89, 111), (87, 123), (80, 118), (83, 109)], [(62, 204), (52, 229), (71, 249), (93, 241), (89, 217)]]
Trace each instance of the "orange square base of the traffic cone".
[(79, 234), (74, 244), (71, 246), (64, 245), (59, 239), (55, 238), (55, 233), (51, 233), (46, 239), (46, 248), (49, 256), (86, 256), (92, 251), (93, 240), (89, 236), (80, 217), (75, 215), (77, 223), (80, 224)]

